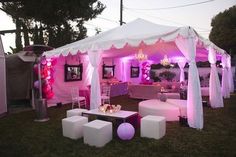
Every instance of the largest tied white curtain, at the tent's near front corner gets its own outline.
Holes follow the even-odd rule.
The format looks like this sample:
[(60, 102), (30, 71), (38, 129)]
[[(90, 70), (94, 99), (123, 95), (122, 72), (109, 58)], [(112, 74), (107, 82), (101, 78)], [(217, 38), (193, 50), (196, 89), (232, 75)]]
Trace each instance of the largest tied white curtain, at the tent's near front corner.
[(195, 38), (183, 38), (179, 36), (175, 43), (189, 62), (188, 73), (188, 98), (187, 98), (187, 118), (188, 124), (192, 128), (203, 128), (202, 96), (200, 89), (199, 74), (195, 62), (196, 41)]

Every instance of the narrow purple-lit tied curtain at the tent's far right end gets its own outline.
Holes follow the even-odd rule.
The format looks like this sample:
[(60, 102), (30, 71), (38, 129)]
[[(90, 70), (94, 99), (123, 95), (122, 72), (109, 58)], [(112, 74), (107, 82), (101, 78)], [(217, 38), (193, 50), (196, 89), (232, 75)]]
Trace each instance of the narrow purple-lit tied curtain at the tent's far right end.
[(229, 79), (228, 79), (228, 69), (227, 69), (227, 56), (225, 54), (221, 57), (221, 64), (222, 64), (222, 95), (224, 98), (230, 97), (230, 90), (229, 90)]

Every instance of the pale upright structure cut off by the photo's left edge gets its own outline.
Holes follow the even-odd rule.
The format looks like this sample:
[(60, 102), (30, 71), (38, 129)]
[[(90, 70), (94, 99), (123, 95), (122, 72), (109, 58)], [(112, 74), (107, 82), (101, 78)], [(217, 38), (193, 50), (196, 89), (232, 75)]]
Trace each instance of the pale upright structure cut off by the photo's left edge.
[(2, 38), (0, 36), (0, 114), (7, 112), (6, 100), (6, 64)]

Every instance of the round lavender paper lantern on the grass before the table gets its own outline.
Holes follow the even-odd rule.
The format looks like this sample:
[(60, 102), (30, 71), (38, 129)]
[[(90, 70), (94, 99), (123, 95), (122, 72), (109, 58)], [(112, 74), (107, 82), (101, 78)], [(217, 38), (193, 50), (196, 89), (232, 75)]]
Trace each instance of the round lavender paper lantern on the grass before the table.
[(117, 134), (122, 140), (131, 140), (134, 137), (134, 127), (130, 123), (122, 123), (117, 129)]

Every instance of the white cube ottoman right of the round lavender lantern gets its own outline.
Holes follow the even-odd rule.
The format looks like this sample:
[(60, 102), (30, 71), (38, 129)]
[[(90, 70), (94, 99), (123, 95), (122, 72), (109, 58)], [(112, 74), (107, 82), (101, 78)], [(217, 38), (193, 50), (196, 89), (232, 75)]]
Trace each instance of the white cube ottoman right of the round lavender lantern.
[(160, 139), (165, 133), (165, 117), (148, 115), (141, 118), (141, 137)]

